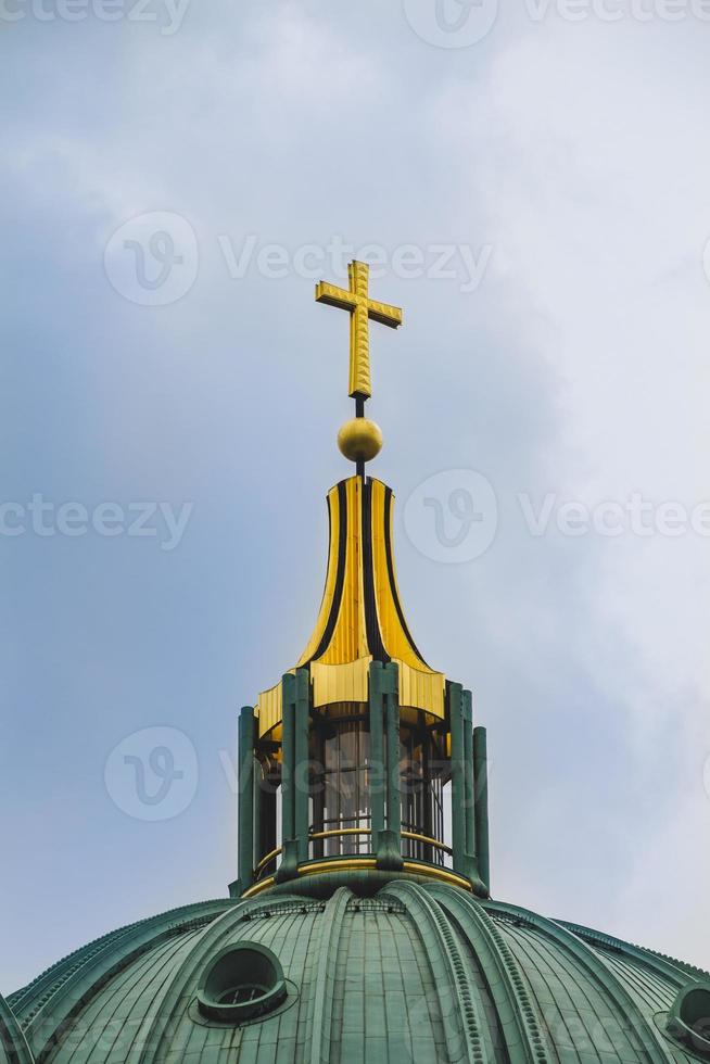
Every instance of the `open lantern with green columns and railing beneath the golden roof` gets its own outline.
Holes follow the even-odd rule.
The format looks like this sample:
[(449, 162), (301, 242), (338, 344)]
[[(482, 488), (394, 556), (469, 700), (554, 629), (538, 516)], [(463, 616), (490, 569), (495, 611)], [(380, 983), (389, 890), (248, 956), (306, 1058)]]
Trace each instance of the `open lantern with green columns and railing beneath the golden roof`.
[(256, 737), (253, 709), (240, 718), (234, 895), (359, 859), (389, 875), (448, 871), (486, 897), (485, 730), (473, 727), (470, 693), (447, 682), (438, 722), (401, 708), (394, 663), (370, 666), (357, 712), (314, 707), (305, 669), (282, 685), (278, 738)]

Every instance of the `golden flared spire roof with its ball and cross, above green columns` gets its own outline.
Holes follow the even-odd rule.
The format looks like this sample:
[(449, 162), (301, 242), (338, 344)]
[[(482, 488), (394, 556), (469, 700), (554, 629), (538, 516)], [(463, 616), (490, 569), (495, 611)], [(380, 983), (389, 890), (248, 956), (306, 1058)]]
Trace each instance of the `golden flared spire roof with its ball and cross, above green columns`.
[[(364, 414), (371, 395), (369, 322), (396, 329), (403, 314), (370, 299), (365, 263), (350, 263), (348, 275), (348, 290), (320, 281), (316, 300), (351, 315), (350, 395), (356, 416), (342, 426), (338, 445), (357, 471), (328, 493), (326, 587), (316, 626), (291, 672), (308, 670), (313, 706), (324, 707), (327, 715), (333, 707), (338, 713), (342, 704), (367, 705), (371, 663), (393, 661), (401, 705), (408, 714), (421, 710), (431, 725), (445, 720), (445, 677), (427, 664), (404, 617), (394, 563), (394, 496), (381, 481), (365, 477), (365, 464), (382, 446), (379, 427)], [(258, 698), (258, 734), (277, 744), (287, 734), (283, 692), (282, 682)]]

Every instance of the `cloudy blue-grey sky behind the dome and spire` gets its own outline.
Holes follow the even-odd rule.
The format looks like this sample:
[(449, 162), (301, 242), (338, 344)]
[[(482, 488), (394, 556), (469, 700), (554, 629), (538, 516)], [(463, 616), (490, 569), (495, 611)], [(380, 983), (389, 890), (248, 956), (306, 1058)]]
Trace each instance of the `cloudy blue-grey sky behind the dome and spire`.
[(405, 308), (371, 471), (489, 727), (494, 894), (710, 965), (710, 11), (493, 3), (0, 0), (2, 992), (236, 876), (355, 252)]

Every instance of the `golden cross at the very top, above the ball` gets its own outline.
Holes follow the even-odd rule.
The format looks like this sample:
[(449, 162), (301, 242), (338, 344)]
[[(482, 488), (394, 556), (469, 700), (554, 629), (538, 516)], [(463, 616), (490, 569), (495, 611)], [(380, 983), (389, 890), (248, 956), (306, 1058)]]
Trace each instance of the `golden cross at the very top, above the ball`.
[(370, 267), (367, 263), (350, 263), (347, 277), (350, 290), (320, 281), (316, 286), (316, 302), (350, 311), (350, 388), (352, 398), (369, 398), (372, 394), (370, 381), (370, 335), (369, 320), (396, 329), (402, 325), (402, 311), (398, 306), (377, 303), (368, 294)]

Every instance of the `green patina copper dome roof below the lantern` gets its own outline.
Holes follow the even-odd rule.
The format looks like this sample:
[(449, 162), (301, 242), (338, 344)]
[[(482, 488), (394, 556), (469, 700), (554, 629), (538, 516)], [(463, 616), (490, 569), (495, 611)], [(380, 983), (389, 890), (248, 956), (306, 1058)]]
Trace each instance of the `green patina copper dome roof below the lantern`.
[[(278, 958), (284, 1000), (239, 1026), (205, 1018), (205, 970), (245, 941)], [(703, 979), (446, 885), (211, 901), (98, 939), (12, 995), (0, 1060), (683, 1064), (698, 1057), (665, 1033), (667, 1016)]]

